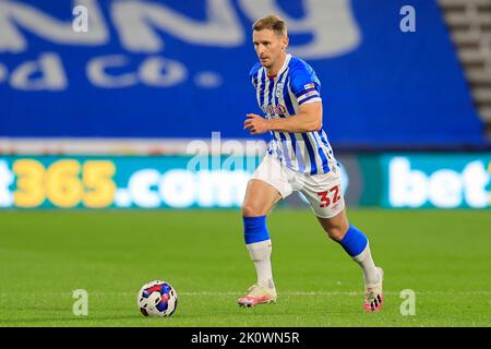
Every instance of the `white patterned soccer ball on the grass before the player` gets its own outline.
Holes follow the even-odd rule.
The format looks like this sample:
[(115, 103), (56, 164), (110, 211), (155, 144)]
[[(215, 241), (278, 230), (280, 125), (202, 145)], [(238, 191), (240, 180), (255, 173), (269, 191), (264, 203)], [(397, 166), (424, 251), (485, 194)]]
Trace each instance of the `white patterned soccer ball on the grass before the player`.
[(154, 280), (142, 286), (136, 299), (140, 312), (145, 316), (170, 316), (177, 308), (178, 296), (166, 281)]

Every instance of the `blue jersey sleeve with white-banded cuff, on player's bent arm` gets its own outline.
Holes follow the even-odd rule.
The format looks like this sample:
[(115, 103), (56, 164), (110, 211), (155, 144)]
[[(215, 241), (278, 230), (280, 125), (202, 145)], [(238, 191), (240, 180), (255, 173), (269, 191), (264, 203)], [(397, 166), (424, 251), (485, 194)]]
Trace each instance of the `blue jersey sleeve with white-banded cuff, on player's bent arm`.
[(322, 101), (321, 83), (310, 67), (300, 65), (291, 72), (290, 88), (299, 105)]

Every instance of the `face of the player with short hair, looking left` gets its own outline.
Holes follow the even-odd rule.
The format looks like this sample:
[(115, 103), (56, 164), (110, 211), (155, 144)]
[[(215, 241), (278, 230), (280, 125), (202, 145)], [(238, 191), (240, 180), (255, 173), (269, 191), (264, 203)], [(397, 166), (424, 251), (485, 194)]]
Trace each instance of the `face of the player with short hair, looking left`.
[(288, 38), (282, 37), (271, 29), (254, 31), (252, 33), (254, 49), (261, 64), (266, 69), (275, 69), (282, 62)]

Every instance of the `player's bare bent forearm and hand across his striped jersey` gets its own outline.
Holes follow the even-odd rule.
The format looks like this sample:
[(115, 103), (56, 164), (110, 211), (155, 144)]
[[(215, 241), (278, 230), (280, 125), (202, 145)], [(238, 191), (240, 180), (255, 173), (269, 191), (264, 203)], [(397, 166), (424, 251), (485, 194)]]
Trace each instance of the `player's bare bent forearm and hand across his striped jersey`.
[(280, 132), (311, 132), (322, 128), (322, 103), (313, 101), (300, 106), (299, 112), (286, 119), (266, 120), (255, 113), (248, 113), (244, 130), (251, 134), (261, 134), (268, 131)]

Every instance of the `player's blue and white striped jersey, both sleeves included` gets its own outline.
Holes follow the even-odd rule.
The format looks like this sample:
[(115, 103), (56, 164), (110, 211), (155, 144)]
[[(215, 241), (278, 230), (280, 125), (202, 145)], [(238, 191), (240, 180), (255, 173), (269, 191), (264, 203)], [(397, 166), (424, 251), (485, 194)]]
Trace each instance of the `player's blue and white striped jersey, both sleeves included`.
[[(287, 55), (285, 63), (274, 77), (256, 63), (250, 73), (256, 89), (258, 104), (266, 119), (289, 118), (306, 103), (321, 101), (321, 83), (313, 69), (303, 60)], [(324, 130), (290, 133), (272, 131), (268, 153), (283, 166), (295, 171), (326, 173), (337, 163)]]

